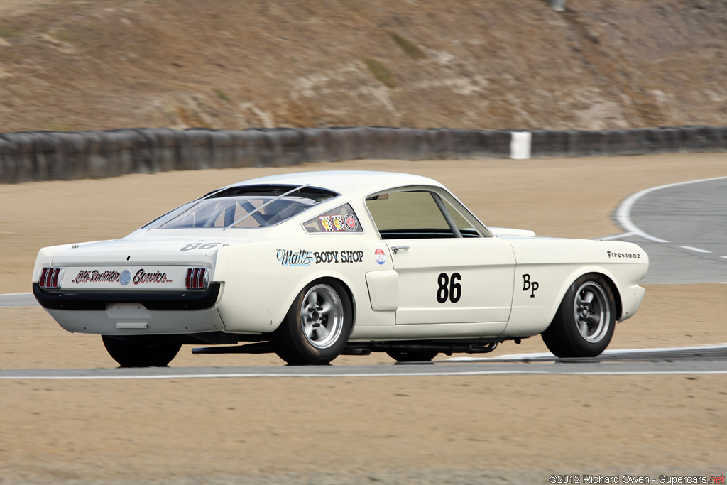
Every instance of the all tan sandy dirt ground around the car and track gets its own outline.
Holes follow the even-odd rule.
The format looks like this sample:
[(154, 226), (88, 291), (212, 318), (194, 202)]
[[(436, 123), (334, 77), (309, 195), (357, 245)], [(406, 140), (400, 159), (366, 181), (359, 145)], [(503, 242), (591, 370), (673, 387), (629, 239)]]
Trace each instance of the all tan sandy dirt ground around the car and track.
[[(727, 175), (727, 154), (356, 161), (0, 185), (0, 293), (30, 291), (41, 246), (119, 238), (213, 188), (316, 169), (426, 175), (489, 225), (595, 238), (620, 232), (610, 215), (630, 193)], [(726, 292), (718, 284), (649, 285), (610, 348), (727, 342)], [(0, 326), (0, 369), (116, 366), (99, 337), (68, 334), (40, 308), (0, 308)], [(497, 352), (543, 350), (534, 337)], [(374, 354), (334, 365), (392, 362)], [(185, 346), (171, 365), (282, 362), (193, 356)], [(723, 374), (0, 380), (0, 484), (719, 477), (727, 471), (726, 390)]]

